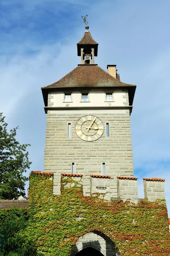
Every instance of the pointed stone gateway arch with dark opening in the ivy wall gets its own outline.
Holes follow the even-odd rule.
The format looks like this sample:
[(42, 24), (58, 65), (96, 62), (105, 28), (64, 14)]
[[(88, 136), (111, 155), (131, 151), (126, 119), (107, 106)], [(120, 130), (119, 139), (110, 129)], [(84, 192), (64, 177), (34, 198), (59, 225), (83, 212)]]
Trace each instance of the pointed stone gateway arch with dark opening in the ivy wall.
[[(109, 239), (108, 236), (98, 230), (93, 230), (81, 236), (72, 247), (70, 256), (86, 255), (85, 249), (88, 251), (95, 250), (96, 256), (120, 256), (120, 253), (116, 250), (116, 244)], [(87, 253), (87, 255), (89, 254)]]

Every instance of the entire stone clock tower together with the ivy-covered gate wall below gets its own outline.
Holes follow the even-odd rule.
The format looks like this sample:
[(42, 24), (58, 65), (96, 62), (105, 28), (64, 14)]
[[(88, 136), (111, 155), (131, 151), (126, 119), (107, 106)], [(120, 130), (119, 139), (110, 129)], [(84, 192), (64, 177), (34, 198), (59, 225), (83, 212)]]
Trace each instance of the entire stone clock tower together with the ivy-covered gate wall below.
[(44, 171), (30, 175), (29, 236), (44, 256), (168, 256), (164, 179), (144, 178), (138, 199), (130, 129), (136, 86), (120, 81), (115, 64), (108, 72), (95, 64), (98, 43), (87, 24), (77, 49), (78, 67), (42, 87)]

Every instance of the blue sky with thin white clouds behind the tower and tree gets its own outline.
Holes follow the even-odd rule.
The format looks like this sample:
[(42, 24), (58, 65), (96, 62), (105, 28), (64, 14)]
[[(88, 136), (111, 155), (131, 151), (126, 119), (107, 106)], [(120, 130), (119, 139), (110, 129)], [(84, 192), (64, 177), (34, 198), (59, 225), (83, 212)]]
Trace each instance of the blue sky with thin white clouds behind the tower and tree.
[(0, 1), (0, 112), (9, 128), (19, 125), (20, 143), (31, 144), (30, 170), (43, 170), (40, 87), (80, 63), (76, 44), (85, 31), (81, 15), (88, 14), (99, 44), (95, 63), (106, 71), (107, 64), (117, 64), (121, 81), (137, 85), (131, 128), (139, 197), (142, 177), (165, 178), (170, 212), (169, 10), (169, 0)]

